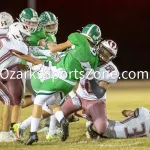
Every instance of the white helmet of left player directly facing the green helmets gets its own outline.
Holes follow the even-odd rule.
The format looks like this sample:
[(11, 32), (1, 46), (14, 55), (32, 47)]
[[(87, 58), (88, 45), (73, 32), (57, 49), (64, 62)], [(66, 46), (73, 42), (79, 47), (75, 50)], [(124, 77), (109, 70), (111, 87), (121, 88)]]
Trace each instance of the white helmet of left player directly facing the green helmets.
[(15, 22), (9, 27), (8, 37), (24, 42), (27, 36), (30, 36), (30, 30), (27, 25), (21, 22)]

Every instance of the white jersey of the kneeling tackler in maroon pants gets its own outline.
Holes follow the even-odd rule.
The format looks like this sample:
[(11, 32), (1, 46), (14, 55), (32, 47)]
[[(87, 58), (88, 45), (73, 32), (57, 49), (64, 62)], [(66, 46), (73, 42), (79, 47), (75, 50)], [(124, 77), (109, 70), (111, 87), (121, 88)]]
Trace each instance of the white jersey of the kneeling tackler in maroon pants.
[[(97, 82), (106, 81), (108, 83), (116, 83), (119, 77), (117, 67), (110, 61), (107, 64), (97, 67), (94, 72), (94, 77)], [(97, 100), (97, 97), (92, 93), (90, 83), (86, 77), (81, 78), (76, 93), (86, 100)], [(106, 99), (106, 93), (99, 100)]]

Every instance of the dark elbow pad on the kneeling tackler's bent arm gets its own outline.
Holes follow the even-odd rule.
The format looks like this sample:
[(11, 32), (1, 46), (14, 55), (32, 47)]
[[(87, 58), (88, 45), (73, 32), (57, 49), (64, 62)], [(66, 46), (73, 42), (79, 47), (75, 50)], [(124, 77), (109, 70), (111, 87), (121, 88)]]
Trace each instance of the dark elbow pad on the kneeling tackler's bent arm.
[(94, 93), (94, 95), (98, 99), (102, 98), (106, 92), (106, 89), (102, 86), (99, 86), (94, 79), (89, 80), (89, 82), (91, 84), (92, 92)]

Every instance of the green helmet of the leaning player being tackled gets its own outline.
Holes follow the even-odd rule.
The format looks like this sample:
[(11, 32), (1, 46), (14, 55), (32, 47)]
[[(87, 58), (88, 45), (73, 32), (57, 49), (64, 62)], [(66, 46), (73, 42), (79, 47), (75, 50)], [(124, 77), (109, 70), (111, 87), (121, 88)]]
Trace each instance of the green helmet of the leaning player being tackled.
[(88, 24), (83, 27), (82, 35), (84, 35), (94, 46), (101, 41), (101, 30), (96, 24)]

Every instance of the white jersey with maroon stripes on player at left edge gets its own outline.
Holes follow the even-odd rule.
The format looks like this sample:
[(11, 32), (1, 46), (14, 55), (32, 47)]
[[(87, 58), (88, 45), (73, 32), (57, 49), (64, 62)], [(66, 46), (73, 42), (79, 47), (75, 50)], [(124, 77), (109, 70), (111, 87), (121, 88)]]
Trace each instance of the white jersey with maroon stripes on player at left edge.
[(21, 59), (11, 54), (10, 50), (28, 54), (28, 48), (23, 42), (6, 37), (0, 38), (0, 70), (20, 63)]

